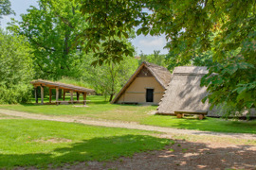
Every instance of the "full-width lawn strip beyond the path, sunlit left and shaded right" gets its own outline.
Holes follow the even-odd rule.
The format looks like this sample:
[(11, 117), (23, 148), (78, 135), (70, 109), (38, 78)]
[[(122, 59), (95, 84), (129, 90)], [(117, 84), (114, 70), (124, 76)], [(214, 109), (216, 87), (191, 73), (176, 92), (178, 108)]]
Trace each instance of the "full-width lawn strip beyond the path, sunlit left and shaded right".
[(175, 127), (198, 129), (217, 132), (253, 133), (256, 134), (256, 121), (233, 121), (219, 118), (176, 119), (174, 116), (152, 115), (149, 112), (156, 110), (156, 106), (112, 105), (104, 101), (102, 96), (90, 95), (86, 108), (75, 108), (72, 105), (46, 106), (46, 105), (2, 105), (0, 108), (21, 110), (32, 113), (76, 116), (76, 118), (95, 118), (105, 120), (118, 120), (137, 122), (142, 125), (158, 127)]

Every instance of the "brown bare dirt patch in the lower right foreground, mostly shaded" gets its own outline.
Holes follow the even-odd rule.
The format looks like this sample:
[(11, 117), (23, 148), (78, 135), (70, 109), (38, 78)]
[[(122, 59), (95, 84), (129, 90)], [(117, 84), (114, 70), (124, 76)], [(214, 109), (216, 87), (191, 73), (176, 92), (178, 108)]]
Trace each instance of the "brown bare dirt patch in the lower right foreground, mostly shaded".
[(164, 150), (135, 154), (117, 161), (85, 161), (53, 169), (256, 169), (256, 145), (174, 141)]

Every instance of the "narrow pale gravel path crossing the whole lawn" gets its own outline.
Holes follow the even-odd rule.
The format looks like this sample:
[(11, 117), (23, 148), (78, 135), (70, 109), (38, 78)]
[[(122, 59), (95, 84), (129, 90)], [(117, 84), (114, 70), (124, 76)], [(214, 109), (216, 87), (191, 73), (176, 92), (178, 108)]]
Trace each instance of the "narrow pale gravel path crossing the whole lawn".
[(86, 120), (86, 119), (78, 120), (75, 118), (34, 114), (34, 113), (27, 113), (27, 112), (16, 111), (16, 110), (0, 109), (0, 113), (6, 114), (9, 116), (23, 117), (27, 119), (48, 120), (48, 121), (68, 122), (68, 123), (81, 123), (84, 125), (91, 125), (91, 126), (123, 127), (123, 128), (132, 128), (132, 129), (159, 131), (159, 132), (171, 133), (171, 134), (209, 135), (209, 136), (218, 136), (218, 137), (256, 140), (255, 134), (247, 134), (247, 133), (221, 133), (221, 132), (199, 131), (199, 130), (190, 130), (190, 129), (177, 129), (177, 128), (170, 128), (170, 127), (154, 127), (154, 126), (138, 125), (136, 123), (124, 123), (124, 122), (116, 122), (116, 121), (111, 122), (111, 121)]

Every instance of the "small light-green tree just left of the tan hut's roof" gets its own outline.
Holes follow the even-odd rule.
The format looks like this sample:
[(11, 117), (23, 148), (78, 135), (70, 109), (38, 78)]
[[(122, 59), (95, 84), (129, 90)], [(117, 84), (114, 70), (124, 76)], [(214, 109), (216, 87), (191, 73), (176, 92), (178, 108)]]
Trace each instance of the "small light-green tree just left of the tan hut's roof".
[[(86, 59), (94, 60), (92, 56), (87, 56)], [(110, 95), (109, 101), (112, 101), (115, 94), (119, 93), (138, 65), (137, 59), (128, 57), (124, 57), (119, 64), (111, 62), (91, 67), (89, 63), (83, 65), (83, 80), (90, 83), (97, 93)]]

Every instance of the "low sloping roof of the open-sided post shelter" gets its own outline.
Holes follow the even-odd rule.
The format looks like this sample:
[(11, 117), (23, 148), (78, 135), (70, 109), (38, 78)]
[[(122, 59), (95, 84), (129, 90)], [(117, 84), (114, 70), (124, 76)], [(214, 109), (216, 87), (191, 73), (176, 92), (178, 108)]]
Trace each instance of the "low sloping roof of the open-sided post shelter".
[(75, 92), (79, 92), (79, 93), (95, 93), (95, 91), (93, 89), (87, 89), (87, 88), (80, 87), (80, 86), (64, 84), (61, 82), (53, 82), (53, 81), (48, 81), (48, 80), (44, 80), (44, 79), (33, 80), (30, 83), (33, 84), (34, 86), (46, 86), (49, 88), (59, 88), (59, 89), (64, 89), (67, 91), (75, 91)]

